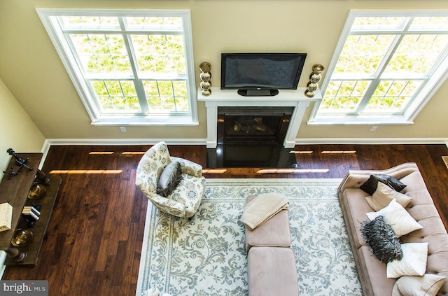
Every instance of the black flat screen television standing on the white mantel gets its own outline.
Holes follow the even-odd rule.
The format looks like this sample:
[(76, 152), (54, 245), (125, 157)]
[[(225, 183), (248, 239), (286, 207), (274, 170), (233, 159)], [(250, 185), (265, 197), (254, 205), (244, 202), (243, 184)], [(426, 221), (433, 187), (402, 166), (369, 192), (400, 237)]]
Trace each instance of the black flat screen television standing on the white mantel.
[(222, 53), (221, 90), (241, 96), (274, 96), (295, 90), (306, 53)]

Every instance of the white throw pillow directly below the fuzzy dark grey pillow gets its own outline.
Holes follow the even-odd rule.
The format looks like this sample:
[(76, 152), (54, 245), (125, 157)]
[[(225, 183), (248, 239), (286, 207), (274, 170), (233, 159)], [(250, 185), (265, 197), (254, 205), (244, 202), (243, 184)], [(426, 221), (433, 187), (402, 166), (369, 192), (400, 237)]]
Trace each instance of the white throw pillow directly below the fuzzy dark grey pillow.
[(387, 277), (396, 279), (400, 276), (423, 276), (428, 260), (428, 243), (401, 244), (401, 248), (403, 258), (387, 263)]

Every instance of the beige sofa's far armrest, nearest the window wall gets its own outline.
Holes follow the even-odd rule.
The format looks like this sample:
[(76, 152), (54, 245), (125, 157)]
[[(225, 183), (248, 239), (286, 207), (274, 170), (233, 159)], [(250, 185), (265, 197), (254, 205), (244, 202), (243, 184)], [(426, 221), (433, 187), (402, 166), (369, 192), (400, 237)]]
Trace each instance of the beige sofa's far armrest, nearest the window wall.
[(391, 167), (390, 169), (382, 170), (349, 170), (347, 174), (342, 179), (339, 188), (337, 188), (338, 194), (343, 192), (346, 188), (359, 188), (363, 185), (365, 181), (370, 177), (370, 175), (381, 174), (393, 176), (400, 180), (401, 178), (413, 173), (414, 171), (419, 171), (415, 162), (406, 162), (404, 164), (398, 164), (398, 166)]

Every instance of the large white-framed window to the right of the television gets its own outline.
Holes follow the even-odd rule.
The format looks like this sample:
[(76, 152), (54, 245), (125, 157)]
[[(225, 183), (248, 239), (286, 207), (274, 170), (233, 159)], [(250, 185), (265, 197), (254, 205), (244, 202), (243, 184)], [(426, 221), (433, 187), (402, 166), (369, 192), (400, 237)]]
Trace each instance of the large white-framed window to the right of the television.
[(309, 124), (412, 123), (447, 69), (447, 11), (352, 11)]

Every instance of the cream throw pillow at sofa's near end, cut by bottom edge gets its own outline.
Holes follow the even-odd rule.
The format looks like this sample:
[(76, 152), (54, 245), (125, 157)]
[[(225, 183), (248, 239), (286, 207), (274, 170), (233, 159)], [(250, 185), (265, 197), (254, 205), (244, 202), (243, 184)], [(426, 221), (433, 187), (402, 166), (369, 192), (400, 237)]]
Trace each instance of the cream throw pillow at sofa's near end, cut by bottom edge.
[(392, 296), (435, 296), (442, 288), (444, 276), (402, 276), (393, 285)]

